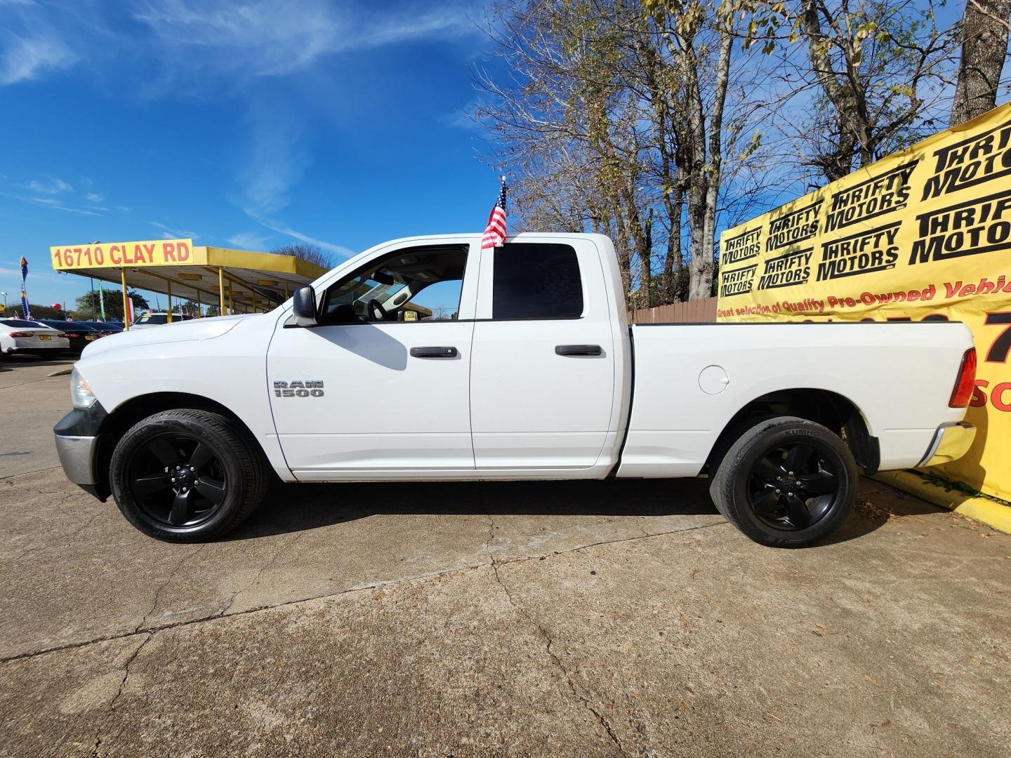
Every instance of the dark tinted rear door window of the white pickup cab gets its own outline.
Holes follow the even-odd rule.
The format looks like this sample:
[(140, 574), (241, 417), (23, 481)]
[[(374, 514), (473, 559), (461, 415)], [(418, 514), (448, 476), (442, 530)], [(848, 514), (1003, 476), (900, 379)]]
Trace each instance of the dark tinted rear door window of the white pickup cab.
[(510, 243), (495, 248), (492, 318), (578, 318), (579, 262), (570, 245)]

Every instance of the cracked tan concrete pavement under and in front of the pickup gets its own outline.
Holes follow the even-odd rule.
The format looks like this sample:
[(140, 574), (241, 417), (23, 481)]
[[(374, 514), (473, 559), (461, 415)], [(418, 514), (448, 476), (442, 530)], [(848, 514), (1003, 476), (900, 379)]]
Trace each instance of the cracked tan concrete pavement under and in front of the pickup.
[(0, 755), (1011, 752), (1011, 538), (876, 482), (801, 551), (695, 480), (285, 485), (175, 546), (22, 468)]

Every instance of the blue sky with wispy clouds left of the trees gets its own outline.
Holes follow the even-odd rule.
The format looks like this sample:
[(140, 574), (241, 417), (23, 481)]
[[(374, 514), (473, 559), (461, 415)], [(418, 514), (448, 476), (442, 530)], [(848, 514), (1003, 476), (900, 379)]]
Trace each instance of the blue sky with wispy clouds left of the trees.
[(340, 258), (480, 230), (481, 20), (472, 0), (0, 0), (0, 290), (24, 255), (31, 301), (73, 307), (88, 280), (53, 271), (59, 244)]

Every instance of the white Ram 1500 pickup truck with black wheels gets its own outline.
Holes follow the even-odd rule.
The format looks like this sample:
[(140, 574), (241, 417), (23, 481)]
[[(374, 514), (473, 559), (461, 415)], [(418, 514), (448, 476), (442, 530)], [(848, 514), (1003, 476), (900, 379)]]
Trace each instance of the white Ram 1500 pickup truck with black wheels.
[[(56, 427), (142, 532), (218, 537), (284, 481), (708, 475), (765, 545), (824, 538), (856, 471), (962, 455), (956, 322), (636, 324), (596, 234), (372, 248), (268, 313), (90, 345)], [(675, 489), (671, 497), (676, 497)]]

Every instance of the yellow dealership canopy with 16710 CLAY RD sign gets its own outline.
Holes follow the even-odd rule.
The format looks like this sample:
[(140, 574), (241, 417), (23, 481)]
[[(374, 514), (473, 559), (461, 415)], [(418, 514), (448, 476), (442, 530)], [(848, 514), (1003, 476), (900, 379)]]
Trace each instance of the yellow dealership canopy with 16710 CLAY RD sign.
[(295, 256), (193, 246), (192, 240), (91, 243), (50, 248), (56, 271), (146, 289), (223, 313), (269, 310), (326, 269)]

